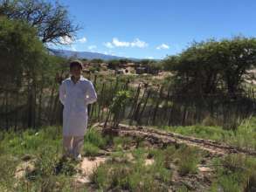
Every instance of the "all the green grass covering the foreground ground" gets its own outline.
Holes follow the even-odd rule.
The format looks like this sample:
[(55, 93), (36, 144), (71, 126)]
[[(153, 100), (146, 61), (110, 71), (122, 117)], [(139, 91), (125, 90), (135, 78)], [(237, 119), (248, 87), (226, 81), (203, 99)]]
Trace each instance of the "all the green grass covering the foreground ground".
[[(187, 134), (217, 141), (235, 141), (238, 136), (255, 133), (256, 120), (246, 121), (237, 133), (221, 127), (164, 127), (179, 134)], [(215, 135), (214, 135), (215, 134)], [(251, 136), (252, 136), (251, 135)], [(225, 138), (225, 140), (224, 140)], [(247, 139), (248, 144), (252, 142)], [(239, 140), (237, 140), (239, 141)], [(234, 142), (233, 142), (234, 143)], [(95, 168), (91, 181), (99, 191), (168, 191), (174, 171), (182, 178), (198, 174), (206, 152), (196, 147), (170, 145), (149, 146), (148, 141), (131, 137), (103, 137), (96, 129), (88, 129), (83, 153), (96, 156), (101, 148), (111, 147), (114, 152), (104, 164)], [(243, 143), (245, 146), (245, 143)], [(131, 148), (132, 147), (132, 148)], [(75, 161), (60, 161), (62, 137), (60, 127), (42, 127), (22, 133), (0, 133), (0, 191), (72, 191), (73, 176), (78, 173)], [(132, 158), (130, 158), (132, 156)], [(27, 171), (17, 182), (17, 165), (24, 159), (34, 161), (35, 168)], [(146, 165), (147, 159), (153, 160)], [(256, 160), (243, 155), (228, 155), (213, 160), (215, 172), (210, 191), (253, 191), (256, 183)], [(176, 191), (189, 191), (179, 186)]]

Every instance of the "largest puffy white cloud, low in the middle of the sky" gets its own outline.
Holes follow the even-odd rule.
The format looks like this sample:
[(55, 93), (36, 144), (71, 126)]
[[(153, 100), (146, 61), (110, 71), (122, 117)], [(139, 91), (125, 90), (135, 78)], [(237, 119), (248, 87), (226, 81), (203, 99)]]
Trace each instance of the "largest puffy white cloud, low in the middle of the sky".
[(104, 43), (107, 48), (114, 48), (114, 47), (139, 47), (144, 48), (148, 46), (148, 44), (139, 38), (135, 38), (134, 41), (128, 42), (128, 41), (120, 41), (118, 38), (113, 38), (112, 42)]

